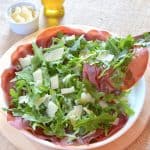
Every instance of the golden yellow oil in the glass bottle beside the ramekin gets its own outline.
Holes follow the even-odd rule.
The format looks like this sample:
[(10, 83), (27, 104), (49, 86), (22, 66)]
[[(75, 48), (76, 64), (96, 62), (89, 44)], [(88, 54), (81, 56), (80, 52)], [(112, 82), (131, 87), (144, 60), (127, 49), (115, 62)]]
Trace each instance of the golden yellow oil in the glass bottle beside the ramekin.
[(64, 0), (42, 0), (46, 17), (60, 18), (64, 16)]

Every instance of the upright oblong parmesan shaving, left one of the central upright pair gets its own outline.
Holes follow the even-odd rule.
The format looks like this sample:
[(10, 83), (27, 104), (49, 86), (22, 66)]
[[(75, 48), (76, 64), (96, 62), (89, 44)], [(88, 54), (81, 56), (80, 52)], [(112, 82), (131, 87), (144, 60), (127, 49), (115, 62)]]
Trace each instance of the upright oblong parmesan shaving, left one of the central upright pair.
[(33, 79), (34, 79), (34, 82), (36, 83), (37, 86), (42, 84), (43, 77), (42, 77), (42, 70), (41, 69), (37, 69), (35, 72), (33, 72)]

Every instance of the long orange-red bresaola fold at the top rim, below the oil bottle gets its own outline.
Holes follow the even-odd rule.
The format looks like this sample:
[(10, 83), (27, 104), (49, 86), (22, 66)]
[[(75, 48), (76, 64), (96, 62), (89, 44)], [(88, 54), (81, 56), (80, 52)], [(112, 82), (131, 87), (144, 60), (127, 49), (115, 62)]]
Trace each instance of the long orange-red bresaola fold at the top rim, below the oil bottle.
[(66, 35), (82, 35), (85, 34), (82, 30), (80, 29), (72, 29), (69, 27), (65, 26), (58, 26), (58, 27), (52, 27), (44, 30), (42, 33), (40, 33), (37, 36), (36, 44), (39, 47), (49, 47), (51, 44), (51, 39), (52, 37), (55, 37), (57, 33), (62, 32)]

